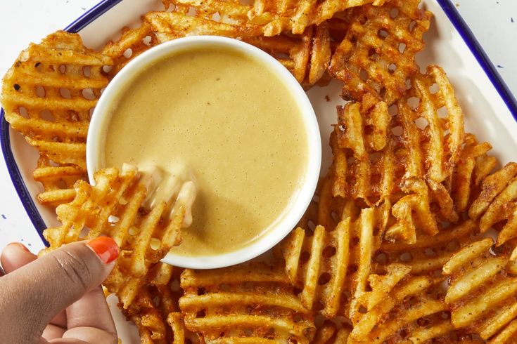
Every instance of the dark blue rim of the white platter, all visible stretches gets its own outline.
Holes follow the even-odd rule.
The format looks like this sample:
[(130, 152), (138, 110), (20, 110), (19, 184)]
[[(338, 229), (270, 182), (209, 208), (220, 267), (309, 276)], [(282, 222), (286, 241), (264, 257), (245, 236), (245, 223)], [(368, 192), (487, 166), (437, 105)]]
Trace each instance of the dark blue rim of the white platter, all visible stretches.
[[(89, 11), (84, 13), (81, 17), (77, 18), (72, 24), (65, 27), (65, 30), (68, 32), (77, 33), (87, 27), (91, 22), (96, 20), (98, 17), (106, 13), (110, 8), (113, 8), (116, 4), (120, 3), (122, 0), (103, 0), (96, 4)], [(471, 29), (469, 29), (466, 22), (461, 18), (461, 15), (457, 11), (456, 6), (454, 6), (452, 0), (437, 0), (438, 4), (447, 15), (447, 18), (452, 22), (452, 25), (457, 29), (461, 38), (464, 39), (466, 45), (473, 53), (476, 60), (478, 60), (480, 66), (483, 68), (487, 77), (492, 81), (494, 88), (497, 90), (502, 100), (510, 110), (512, 116), (517, 121), (517, 100), (512, 95), (508, 86), (503, 81), (502, 77), (497, 72), (496, 68), (487, 57), (487, 54), (480, 46), (477, 39), (475, 39)], [(18, 192), (18, 196), (22, 201), (23, 206), (25, 207), (25, 211), (27, 211), (27, 215), (29, 216), (32, 224), (36, 228), (39, 237), (42, 238), (44, 244), (48, 245), (46, 240), (43, 237), (43, 230), (46, 228), (44, 220), (42, 216), (39, 214), (39, 211), (32, 200), (32, 197), (25, 186), (25, 181), (23, 180), (20, 169), (16, 164), (15, 158), (13, 156), (13, 152), (11, 150), (11, 138), (9, 135), (9, 124), (4, 118), (4, 110), (0, 110), (0, 140), (1, 140), (1, 148), (4, 153), (4, 159), (6, 161), (6, 165), (8, 168), (9, 175), (11, 176), (11, 180), (13, 181), (13, 185), (15, 187), (16, 192)]]

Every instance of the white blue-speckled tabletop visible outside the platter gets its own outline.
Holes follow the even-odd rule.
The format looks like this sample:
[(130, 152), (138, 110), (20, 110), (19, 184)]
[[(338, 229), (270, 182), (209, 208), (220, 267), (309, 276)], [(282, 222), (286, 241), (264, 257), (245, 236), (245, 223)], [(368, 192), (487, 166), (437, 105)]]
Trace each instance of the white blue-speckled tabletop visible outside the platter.
[[(0, 0), (0, 76), (31, 42), (62, 29), (98, 0)], [(461, 15), (517, 94), (517, 1), (456, 0)], [(23, 242), (31, 251), (42, 249), (25, 209), (18, 199), (0, 158), (0, 250), (10, 242)]]

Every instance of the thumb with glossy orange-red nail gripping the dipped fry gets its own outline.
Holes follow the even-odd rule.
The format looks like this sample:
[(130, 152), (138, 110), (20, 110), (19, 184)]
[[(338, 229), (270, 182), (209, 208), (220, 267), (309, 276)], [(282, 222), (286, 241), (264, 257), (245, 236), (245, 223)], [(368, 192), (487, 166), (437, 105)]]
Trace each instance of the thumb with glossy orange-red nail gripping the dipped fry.
[(27, 342), (66, 307), (99, 286), (115, 265), (118, 246), (108, 237), (76, 242), (34, 260), (0, 279), (0, 324), (30, 331)]

